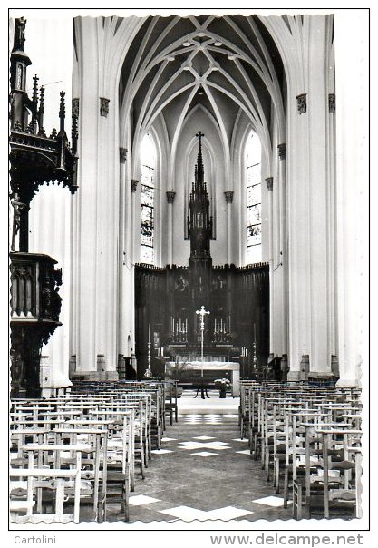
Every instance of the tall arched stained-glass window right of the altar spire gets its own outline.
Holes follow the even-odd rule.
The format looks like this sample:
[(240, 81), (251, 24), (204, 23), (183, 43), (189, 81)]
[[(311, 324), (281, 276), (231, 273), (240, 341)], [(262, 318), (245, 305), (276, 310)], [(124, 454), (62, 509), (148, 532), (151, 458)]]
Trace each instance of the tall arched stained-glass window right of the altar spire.
[(247, 263), (261, 261), (261, 142), (250, 132), (245, 149), (247, 188)]

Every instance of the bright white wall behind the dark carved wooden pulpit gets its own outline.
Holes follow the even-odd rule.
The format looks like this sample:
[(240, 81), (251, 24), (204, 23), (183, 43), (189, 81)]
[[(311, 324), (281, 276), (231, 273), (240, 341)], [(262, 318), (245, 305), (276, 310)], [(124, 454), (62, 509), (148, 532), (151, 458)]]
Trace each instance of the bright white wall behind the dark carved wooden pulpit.
[[(73, 20), (62, 15), (52, 20), (27, 15), (25, 52), (32, 65), (27, 71), (27, 90), (33, 91), (33, 76), (40, 77), (39, 86), (45, 87), (44, 129), (50, 135), (53, 127), (59, 131), (59, 103), (61, 90), (65, 92), (65, 130), (71, 140), (71, 90)], [(55, 44), (52, 51), (52, 44)], [(62, 46), (60, 45), (62, 44)], [(45, 186), (40, 189), (31, 203), (29, 215), (29, 250), (51, 255), (63, 269), (63, 286), (60, 295), (63, 299), (60, 321), (63, 326), (56, 328), (49, 343), (43, 347), (42, 356), (52, 367), (51, 385), (68, 386), (69, 330), (71, 300), (71, 247), (70, 222), (73, 197), (68, 189), (61, 186)]]

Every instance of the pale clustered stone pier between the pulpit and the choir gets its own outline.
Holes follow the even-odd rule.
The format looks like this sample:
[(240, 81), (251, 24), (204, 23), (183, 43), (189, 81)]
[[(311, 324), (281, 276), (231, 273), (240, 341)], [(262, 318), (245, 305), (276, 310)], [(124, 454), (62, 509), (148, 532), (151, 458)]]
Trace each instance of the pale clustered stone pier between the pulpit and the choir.
[[(120, 167), (118, 83), (104, 78), (106, 32), (96, 18), (77, 22), (80, 48), (79, 190), (73, 197), (76, 371), (117, 378)], [(95, 67), (95, 69), (93, 69)], [(102, 371), (103, 370), (103, 371)]]

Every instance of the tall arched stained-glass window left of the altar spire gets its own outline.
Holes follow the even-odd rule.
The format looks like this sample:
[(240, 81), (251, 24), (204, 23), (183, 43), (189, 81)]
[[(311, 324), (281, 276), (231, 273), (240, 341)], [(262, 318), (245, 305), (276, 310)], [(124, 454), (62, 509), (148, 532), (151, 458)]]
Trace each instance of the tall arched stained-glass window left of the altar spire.
[(154, 263), (154, 198), (156, 148), (150, 136), (141, 142), (141, 262)]

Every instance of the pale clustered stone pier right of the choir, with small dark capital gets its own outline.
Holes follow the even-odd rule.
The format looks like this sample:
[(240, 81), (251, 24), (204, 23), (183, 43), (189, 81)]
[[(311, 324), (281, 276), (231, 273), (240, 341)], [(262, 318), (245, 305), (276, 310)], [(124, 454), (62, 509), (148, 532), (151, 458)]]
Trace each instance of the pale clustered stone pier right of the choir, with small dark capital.
[[(331, 48), (330, 16), (305, 16), (307, 46), (301, 74), (287, 113), (287, 228), (290, 378), (309, 368), (312, 377), (331, 374), (330, 315), (332, 299), (327, 255), (332, 225), (329, 187), (328, 75), (325, 51)], [(291, 69), (293, 70), (293, 69)], [(298, 77), (300, 76), (300, 77)], [(294, 81), (294, 78), (293, 78)], [(298, 93), (299, 92), (299, 93)], [(309, 364), (309, 366), (307, 366)]]

